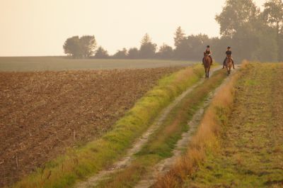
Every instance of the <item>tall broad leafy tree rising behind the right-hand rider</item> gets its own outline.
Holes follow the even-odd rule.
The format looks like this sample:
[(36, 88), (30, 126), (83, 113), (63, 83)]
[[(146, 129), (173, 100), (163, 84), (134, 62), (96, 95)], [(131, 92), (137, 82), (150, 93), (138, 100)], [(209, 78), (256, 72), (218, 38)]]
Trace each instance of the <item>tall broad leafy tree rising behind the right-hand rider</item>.
[(233, 57), (237, 62), (257, 57), (262, 21), (260, 9), (253, 0), (226, 0), (216, 21), (220, 24), (221, 40), (226, 42), (226, 46), (232, 46)]

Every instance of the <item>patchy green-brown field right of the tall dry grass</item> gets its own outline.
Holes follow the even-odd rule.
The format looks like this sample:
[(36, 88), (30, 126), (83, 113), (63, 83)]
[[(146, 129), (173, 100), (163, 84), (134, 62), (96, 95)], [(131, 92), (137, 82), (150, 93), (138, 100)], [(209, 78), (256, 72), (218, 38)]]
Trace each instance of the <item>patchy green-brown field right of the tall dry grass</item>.
[(232, 114), (190, 187), (282, 187), (283, 64), (250, 64), (236, 83)]

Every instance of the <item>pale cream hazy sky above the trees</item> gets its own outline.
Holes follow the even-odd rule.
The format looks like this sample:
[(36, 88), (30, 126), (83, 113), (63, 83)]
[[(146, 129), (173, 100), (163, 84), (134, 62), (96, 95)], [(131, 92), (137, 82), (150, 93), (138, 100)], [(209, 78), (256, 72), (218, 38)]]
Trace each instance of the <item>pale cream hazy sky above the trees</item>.
[[(235, 0), (236, 1), (236, 0)], [(145, 33), (173, 45), (181, 26), (187, 35), (219, 35), (214, 20), (225, 0), (0, 0), (0, 56), (63, 55), (73, 35), (95, 35), (110, 54), (139, 47)], [(265, 0), (256, 0), (258, 6)]]

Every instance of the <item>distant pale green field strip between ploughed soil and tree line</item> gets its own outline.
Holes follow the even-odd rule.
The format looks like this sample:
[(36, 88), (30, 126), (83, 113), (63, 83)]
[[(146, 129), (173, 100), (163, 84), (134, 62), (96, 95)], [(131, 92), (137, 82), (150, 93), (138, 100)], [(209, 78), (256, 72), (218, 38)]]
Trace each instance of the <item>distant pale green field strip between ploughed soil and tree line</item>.
[(97, 60), (70, 57), (0, 57), (0, 71), (112, 70), (189, 66), (194, 62), (177, 60)]

